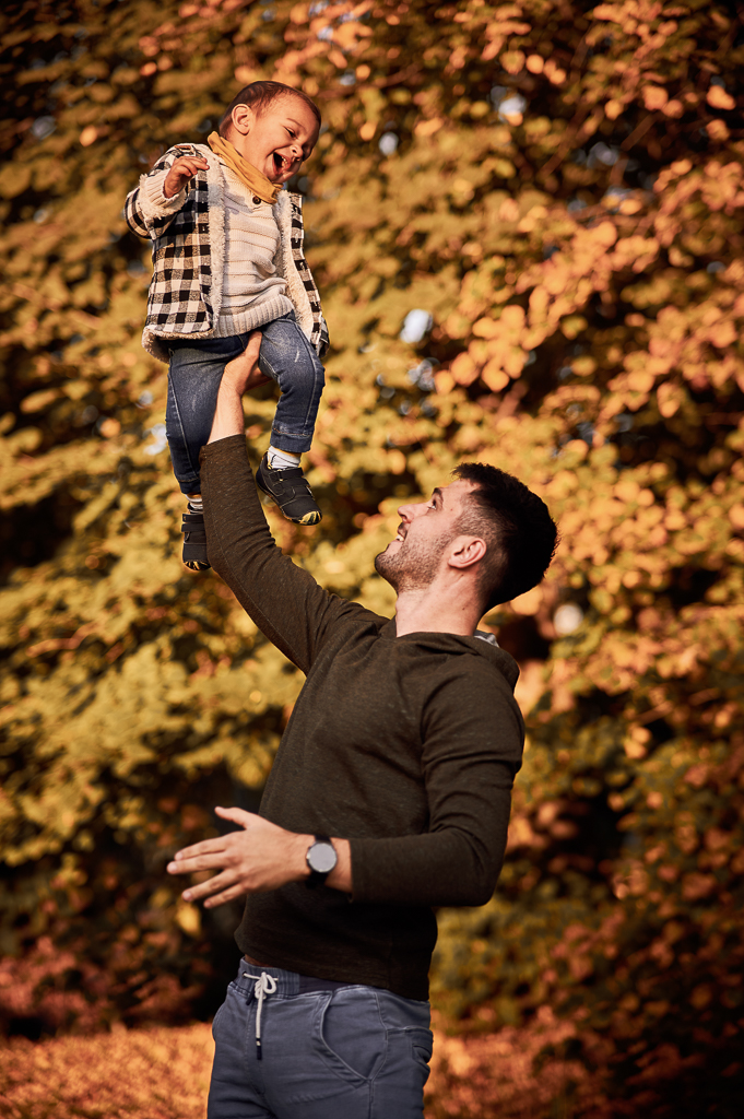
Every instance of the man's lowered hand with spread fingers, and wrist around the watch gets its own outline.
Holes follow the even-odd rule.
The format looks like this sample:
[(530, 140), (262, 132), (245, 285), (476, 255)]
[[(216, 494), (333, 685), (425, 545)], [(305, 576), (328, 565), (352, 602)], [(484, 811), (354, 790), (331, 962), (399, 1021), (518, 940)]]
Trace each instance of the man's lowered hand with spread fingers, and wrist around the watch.
[[(242, 808), (217, 808), (224, 820), (239, 824), (243, 831), (230, 831), (217, 839), (205, 839), (176, 853), (168, 864), (169, 874), (194, 874), (197, 871), (217, 871), (213, 878), (189, 886), (182, 897), (187, 902), (206, 899), (205, 908), (214, 909), (232, 902), (242, 894), (261, 894), (279, 890), (288, 882), (301, 882), (310, 874), (305, 855), (313, 841), (311, 835), (299, 835), (277, 827), (271, 820)], [(337, 890), (351, 890), (351, 858), (349, 844), (335, 839), (339, 856), (338, 866), (326, 880)]]

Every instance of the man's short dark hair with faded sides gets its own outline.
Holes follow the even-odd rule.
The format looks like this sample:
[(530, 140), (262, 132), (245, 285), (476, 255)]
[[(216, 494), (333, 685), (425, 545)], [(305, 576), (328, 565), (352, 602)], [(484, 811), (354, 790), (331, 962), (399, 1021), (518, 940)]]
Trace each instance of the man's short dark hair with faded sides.
[(537, 586), (555, 554), (558, 530), (545, 501), (512, 474), (482, 462), (463, 462), (453, 473), (474, 487), (458, 528), (486, 540), (481, 585), (484, 611), (492, 610)]

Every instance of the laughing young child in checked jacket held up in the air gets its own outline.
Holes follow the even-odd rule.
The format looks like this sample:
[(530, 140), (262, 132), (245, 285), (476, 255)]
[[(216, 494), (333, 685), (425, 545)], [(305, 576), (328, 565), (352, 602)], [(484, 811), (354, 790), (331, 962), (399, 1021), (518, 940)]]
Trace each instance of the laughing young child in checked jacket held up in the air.
[(302, 256), (299, 195), (283, 185), (308, 159), (320, 113), (301, 91), (253, 82), (206, 144), (177, 144), (128, 195), (124, 216), (152, 241), (153, 275), (142, 345), (169, 363), (166, 434), (188, 497), (183, 563), (209, 566), (199, 451), (207, 442), (225, 366), (263, 335), (258, 367), (281, 396), (256, 482), (290, 520), (320, 509), (300, 469), (323, 391), (328, 331)]

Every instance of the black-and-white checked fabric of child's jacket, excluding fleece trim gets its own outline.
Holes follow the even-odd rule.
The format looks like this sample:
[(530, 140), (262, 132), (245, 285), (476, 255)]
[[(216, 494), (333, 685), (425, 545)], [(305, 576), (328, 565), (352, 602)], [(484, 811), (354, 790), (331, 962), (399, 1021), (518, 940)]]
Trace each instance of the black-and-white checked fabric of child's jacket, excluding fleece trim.
[[(170, 148), (150, 175), (167, 170), (181, 156), (203, 157), (195, 144)], [(124, 218), (132, 233), (152, 241), (153, 272), (148, 295), (145, 332), (153, 335), (205, 335), (214, 329), (211, 304), (211, 251), (209, 245), (207, 172), (199, 170), (186, 188), (183, 206), (172, 215), (145, 219), (140, 206), (140, 188), (126, 196)], [(302, 198), (290, 195), (292, 204), (292, 258), (310, 300), (313, 327), (310, 342), (319, 357), (328, 349), (328, 329), (320, 295), (302, 253)]]

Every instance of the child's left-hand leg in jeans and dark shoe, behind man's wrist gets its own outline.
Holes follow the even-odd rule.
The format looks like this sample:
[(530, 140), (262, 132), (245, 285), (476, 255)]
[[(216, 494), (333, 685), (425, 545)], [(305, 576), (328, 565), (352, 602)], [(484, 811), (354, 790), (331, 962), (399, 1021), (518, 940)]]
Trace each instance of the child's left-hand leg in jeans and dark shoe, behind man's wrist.
[(178, 339), (169, 344), (166, 436), (176, 479), (181, 492), (189, 498), (182, 532), (183, 563), (191, 571), (209, 566), (199, 451), (209, 439), (225, 366), (243, 351), (243, 347), (244, 340), (239, 338)]

